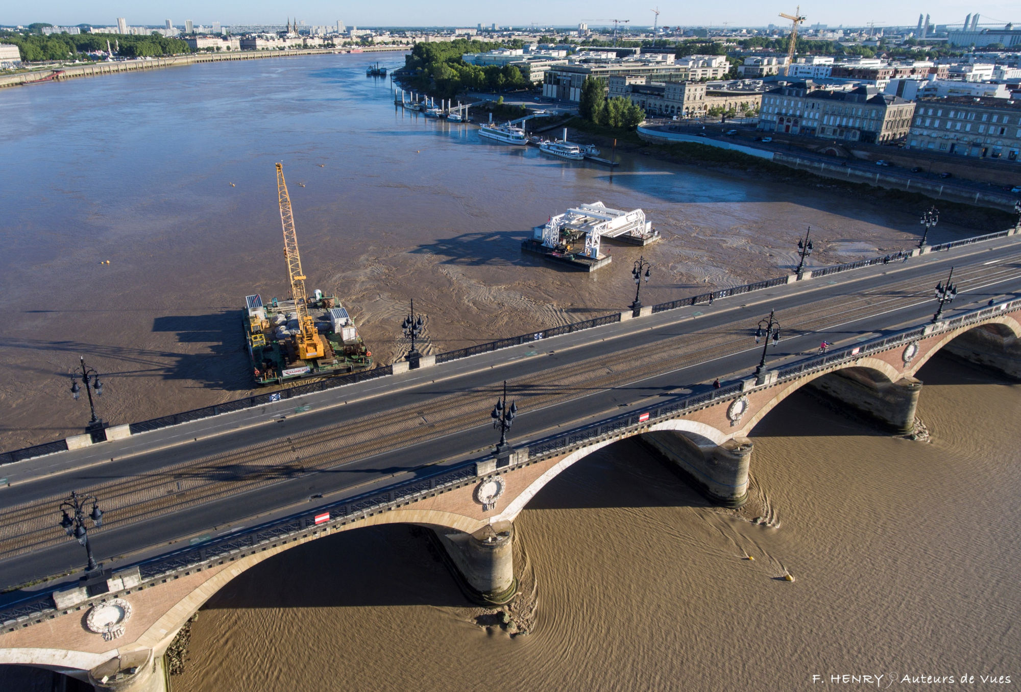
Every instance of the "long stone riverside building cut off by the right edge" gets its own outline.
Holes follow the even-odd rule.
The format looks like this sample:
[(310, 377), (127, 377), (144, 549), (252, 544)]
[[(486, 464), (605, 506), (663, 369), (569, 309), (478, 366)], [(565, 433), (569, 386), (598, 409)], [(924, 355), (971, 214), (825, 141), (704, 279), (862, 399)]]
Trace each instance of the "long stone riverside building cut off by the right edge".
[(923, 98), (915, 108), (909, 149), (1018, 161), (1021, 100), (949, 96)]

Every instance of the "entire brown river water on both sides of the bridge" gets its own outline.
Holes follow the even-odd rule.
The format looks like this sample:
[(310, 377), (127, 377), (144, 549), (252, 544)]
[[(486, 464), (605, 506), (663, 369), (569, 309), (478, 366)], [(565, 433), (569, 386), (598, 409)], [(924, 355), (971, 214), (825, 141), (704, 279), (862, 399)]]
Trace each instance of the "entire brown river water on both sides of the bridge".
[[(248, 393), (241, 301), (286, 291), (280, 159), (309, 288), (341, 296), (383, 362), (411, 297), (442, 351), (621, 309), (642, 253), (643, 298), (658, 302), (789, 270), (809, 225), (820, 264), (918, 237), (920, 209), (827, 188), (638, 155), (611, 181), (480, 144), (395, 113), (368, 61), (0, 93), (0, 143), (27, 161), (0, 189), (0, 447), (84, 425), (66, 393), (79, 354), (106, 375), (101, 414), (116, 423)], [(597, 199), (644, 208), (665, 241), (607, 243), (614, 262), (592, 276), (520, 253), (532, 226)], [(941, 223), (933, 237), (987, 230)], [(476, 625), (409, 528), (366, 529), (228, 585), (194, 624), (174, 689), (794, 690), (813, 675), (890, 674), (1017, 685), (1021, 387), (945, 358), (920, 378), (929, 443), (788, 399), (755, 431), (756, 497), (741, 511), (708, 505), (634, 442), (576, 464), (516, 523), (525, 636)]]

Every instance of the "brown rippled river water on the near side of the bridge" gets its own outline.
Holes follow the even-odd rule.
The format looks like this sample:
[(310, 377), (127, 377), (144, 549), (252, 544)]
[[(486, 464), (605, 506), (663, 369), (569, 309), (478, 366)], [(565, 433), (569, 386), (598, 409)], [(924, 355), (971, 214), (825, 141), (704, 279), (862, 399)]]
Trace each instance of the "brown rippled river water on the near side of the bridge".
[(476, 626), (407, 528), (366, 529), (228, 585), (193, 627), (175, 689), (794, 690), (869, 674), (896, 674), (901, 689), (905, 675), (963, 673), (1017, 684), (1021, 481), (1005, 424), (1021, 387), (942, 358), (920, 377), (930, 443), (808, 395), (784, 402), (755, 432), (741, 511), (708, 506), (633, 442), (562, 474), (516, 523), (527, 636)]

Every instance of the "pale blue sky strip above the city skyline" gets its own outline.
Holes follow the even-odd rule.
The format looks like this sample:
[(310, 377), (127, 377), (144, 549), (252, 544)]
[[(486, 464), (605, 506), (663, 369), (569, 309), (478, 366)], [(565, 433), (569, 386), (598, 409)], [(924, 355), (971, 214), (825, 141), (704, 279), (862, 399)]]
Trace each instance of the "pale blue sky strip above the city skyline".
[[(501, 26), (576, 24), (579, 21), (604, 23), (610, 19), (630, 19), (634, 26), (650, 26), (652, 12), (661, 9), (661, 26), (765, 26), (781, 23), (777, 12), (792, 13), (798, 0), (780, 0), (763, 3), (760, 0), (730, 0), (712, 2), (659, 2), (658, 0), (513, 0), (501, 3), (422, 2), (422, 0), (391, 0), (389, 2), (328, 2), (326, 0), (149, 0), (145, 3), (126, 0), (41, 0), (40, 2), (11, 2), (0, 10), (0, 23), (27, 24), (48, 21), (54, 24), (115, 23), (123, 16), (130, 24), (157, 24), (172, 19), (175, 26), (185, 19), (209, 24), (220, 21), (234, 23), (283, 23), (288, 16), (297, 16), (309, 24), (329, 24), (343, 19), (348, 26), (461, 26), (474, 27), (482, 22)], [(789, 6), (788, 6), (789, 5)], [(1018, 20), (1021, 23), (1021, 4), (1017, 2), (991, 2), (966, 4), (937, 0), (907, 3), (903, 0), (859, 0), (835, 3), (806, 2), (801, 0), (801, 13), (808, 23), (830, 26), (862, 26), (875, 21), (877, 27), (914, 24), (920, 12), (928, 12), (932, 21), (953, 23), (964, 20), (966, 14), (979, 12), (984, 23), (995, 19)]]

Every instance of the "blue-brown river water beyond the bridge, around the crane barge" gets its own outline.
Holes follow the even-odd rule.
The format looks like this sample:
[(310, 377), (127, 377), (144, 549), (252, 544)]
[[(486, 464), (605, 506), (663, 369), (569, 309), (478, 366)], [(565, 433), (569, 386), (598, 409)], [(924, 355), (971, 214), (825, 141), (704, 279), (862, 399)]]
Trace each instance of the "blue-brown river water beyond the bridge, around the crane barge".
[[(399, 58), (385, 57), (396, 63)], [(139, 421), (249, 393), (239, 306), (285, 297), (274, 162), (290, 182), (308, 288), (341, 297), (379, 361), (411, 297), (427, 350), (909, 246), (918, 209), (623, 156), (611, 176), (474, 128), (397, 110), (364, 56), (194, 65), (0, 93), (0, 448), (80, 432), (79, 355), (106, 375), (99, 413)], [(302, 187), (303, 186), (303, 187)], [(520, 250), (579, 202), (643, 208), (652, 247), (594, 275)], [(984, 231), (982, 229), (981, 231)], [(942, 221), (933, 238), (975, 229)], [(109, 263), (105, 263), (109, 260)], [(102, 262), (102, 263), (101, 263)]]

